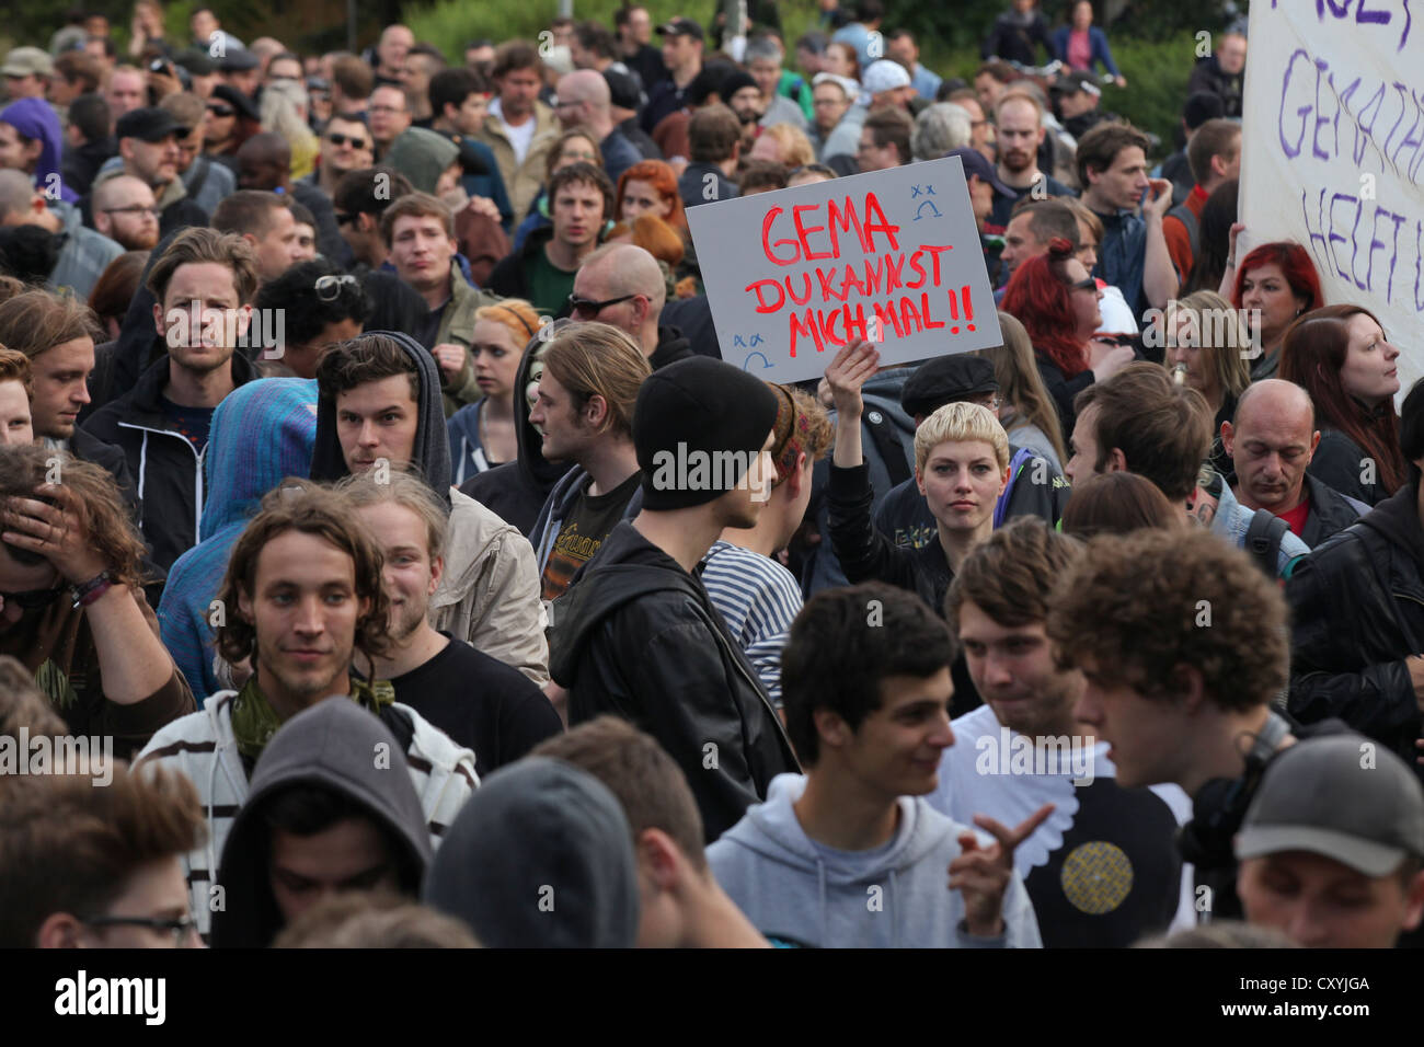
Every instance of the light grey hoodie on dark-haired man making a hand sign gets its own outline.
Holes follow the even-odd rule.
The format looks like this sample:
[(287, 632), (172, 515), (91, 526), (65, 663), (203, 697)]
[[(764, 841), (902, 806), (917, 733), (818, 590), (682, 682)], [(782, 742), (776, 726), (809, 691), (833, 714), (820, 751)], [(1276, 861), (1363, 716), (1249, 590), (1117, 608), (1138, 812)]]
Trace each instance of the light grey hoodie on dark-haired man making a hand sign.
[(1042, 947), (1018, 872), (1004, 892), (1004, 933), (975, 937), (963, 929), (964, 897), (946, 886), (946, 869), (960, 856), (960, 835), (974, 829), (921, 796), (901, 796), (886, 846), (834, 850), (812, 840), (796, 818), (792, 805), (805, 791), (803, 776), (778, 775), (766, 802), (706, 852), (716, 882), (768, 937), (817, 949)]

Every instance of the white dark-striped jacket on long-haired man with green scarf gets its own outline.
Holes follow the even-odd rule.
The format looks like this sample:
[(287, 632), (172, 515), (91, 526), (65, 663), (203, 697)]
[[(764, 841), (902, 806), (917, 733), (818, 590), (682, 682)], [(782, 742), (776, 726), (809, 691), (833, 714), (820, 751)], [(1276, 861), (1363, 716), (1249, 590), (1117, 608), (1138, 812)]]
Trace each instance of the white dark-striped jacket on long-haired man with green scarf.
[[(214, 890), (222, 848), (232, 819), (248, 798), (248, 775), (232, 734), (232, 699), (236, 694), (219, 691), (197, 712), (172, 721), (152, 736), (135, 761), (158, 761), (181, 771), (198, 789), (208, 833), (202, 845), (182, 856), (182, 870), (192, 896), (192, 916), (205, 939), (212, 926), (212, 912), (222, 900)], [(409, 705), (396, 702), (393, 708), (410, 717), (414, 725), (406, 762), (430, 829), (430, 846), (439, 848), (440, 836), (480, 783), (474, 754), (461, 749)]]

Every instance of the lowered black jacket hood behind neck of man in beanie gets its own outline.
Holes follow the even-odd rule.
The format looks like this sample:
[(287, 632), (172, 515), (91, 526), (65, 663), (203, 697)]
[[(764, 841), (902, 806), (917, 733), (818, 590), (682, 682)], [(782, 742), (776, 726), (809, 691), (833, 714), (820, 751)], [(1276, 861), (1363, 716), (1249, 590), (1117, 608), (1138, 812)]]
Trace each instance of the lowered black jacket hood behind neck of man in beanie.
[(598, 556), (578, 568), (550, 614), (550, 675), (572, 679), (584, 647), (604, 618), (631, 600), (672, 591), (703, 604), (692, 577), (638, 528), (622, 520), (604, 538)]

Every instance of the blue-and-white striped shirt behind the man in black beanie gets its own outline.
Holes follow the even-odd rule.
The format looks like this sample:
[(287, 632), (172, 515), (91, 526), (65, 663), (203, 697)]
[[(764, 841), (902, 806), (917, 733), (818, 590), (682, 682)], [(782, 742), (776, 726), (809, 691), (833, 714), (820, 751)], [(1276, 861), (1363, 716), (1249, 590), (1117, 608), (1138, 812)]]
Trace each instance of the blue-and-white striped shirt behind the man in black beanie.
[(719, 540), (702, 557), (702, 585), (780, 708), (782, 648), (802, 608), (796, 577), (770, 557)]

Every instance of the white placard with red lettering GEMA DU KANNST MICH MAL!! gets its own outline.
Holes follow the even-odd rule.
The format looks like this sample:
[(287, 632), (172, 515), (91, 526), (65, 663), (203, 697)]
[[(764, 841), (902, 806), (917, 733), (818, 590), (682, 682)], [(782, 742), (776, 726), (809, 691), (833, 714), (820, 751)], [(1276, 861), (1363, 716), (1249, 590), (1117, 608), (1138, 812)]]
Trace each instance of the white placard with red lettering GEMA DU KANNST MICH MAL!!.
[(1001, 345), (958, 157), (688, 208), (722, 359), (768, 382), (824, 373), (857, 338), (881, 363)]

